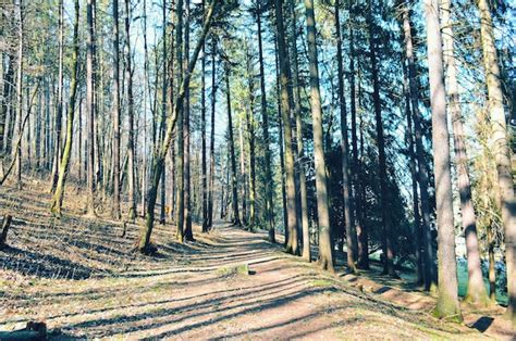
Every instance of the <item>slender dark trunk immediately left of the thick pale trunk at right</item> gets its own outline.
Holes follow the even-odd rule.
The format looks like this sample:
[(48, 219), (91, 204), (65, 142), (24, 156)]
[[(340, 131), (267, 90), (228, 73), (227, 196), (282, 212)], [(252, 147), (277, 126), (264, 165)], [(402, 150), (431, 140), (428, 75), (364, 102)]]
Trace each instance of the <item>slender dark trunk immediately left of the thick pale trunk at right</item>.
[(408, 86), (410, 90), (410, 106), (414, 117), (414, 131), (416, 142), (416, 157), (418, 163), (417, 179), (419, 182), (419, 191), (421, 197), (421, 228), (422, 228), (422, 244), (423, 244), (423, 276), (425, 289), (434, 291), (437, 287), (437, 273), (434, 250), (432, 243), (432, 226), (430, 223), (430, 199), (429, 199), (429, 179), (428, 166), (425, 159), (425, 147), (422, 143), (422, 117), (419, 111), (419, 91), (416, 74), (416, 58), (414, 54), (413, 36), (411, 36), (411, 20), (409, 3), (406, 2), (403, 12), (403, 29), (405, 35), (405, 53), (408, 62)]

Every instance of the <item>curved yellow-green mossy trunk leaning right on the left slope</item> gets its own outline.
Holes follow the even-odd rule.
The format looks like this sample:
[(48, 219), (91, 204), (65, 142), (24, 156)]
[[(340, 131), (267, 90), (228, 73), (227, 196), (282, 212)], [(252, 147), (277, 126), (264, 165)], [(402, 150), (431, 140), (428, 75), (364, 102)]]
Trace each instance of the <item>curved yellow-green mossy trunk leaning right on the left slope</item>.
[(77, 94), (77, 65), (78, 65), (78, 17), (79, 17), (79, 0), (75, 0), (75, 22), (73, 28), (73, 54), (72, 54), (72, 77), (70, 79), (70, 100), (66, 109), (66, 140), (64, 143), (64, 150), (62, 153), (61, 163), (59, 165), (59, 178), (56, 187), (56, 191), (52, 198), (52, 204), (50, 211), (61, 216), (61, 207), (63, 204), (64, 186), (66, 184), (66, 177), (70, 169), (70, 159), (72, 156), (72, 143), (73, 143), (73, 121), (75, 114), (75, 100)]

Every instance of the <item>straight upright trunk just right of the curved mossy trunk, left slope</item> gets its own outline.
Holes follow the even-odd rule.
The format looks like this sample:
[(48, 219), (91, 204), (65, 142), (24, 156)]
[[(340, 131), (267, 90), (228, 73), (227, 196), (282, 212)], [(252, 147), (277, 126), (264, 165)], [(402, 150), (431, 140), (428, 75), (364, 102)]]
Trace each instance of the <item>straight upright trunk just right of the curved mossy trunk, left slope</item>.
[(86, 40), (86, 109), (88, 113), (88, 204), (87, 214), (96, 215), (95, 213), (95, 103), (94, 103), (94, 45), (95, 45), (95, 28), (94, 28), (94, 8), (96, 0), (87, 0), (86, 20), (88, 25), (88, 34)]

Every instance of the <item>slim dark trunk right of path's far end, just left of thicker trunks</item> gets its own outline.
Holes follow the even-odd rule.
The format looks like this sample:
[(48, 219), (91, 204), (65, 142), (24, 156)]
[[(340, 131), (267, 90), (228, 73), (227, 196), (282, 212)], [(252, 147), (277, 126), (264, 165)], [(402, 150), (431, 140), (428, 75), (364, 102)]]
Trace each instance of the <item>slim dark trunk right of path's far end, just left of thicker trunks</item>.
[(266, 222), (268, 229), (268, 238), (270, 242), (275, 242), (274, 235), (274, 207), (273, 207), (273, 180), (271, 172), (271, 151), (269, 137), (269, 115), (267, 113), (267, 94), (266, 94), (266, 76), (263, 71), (263, 47), (261, 39), (261, 0), (257, 2), (256, 21), (258, 24), (258, 58), (260, 65), (260, 110), (261, 110), (261, 127), (263, 135), (265, 164), (263, 172), (266, 176)]

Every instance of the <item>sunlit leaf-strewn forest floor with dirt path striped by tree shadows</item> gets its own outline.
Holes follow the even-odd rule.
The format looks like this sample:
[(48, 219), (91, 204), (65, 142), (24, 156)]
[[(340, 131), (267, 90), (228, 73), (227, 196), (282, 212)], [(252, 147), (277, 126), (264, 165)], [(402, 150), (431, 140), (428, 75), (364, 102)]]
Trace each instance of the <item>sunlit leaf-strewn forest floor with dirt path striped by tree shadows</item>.
[[(12, 214), (0, 251), (0, 330), (47, 324), (52, 339), (512, 339), (502, 307), (463, 304), (464, 324), (432, 317), (435, 299), (379, 268), (335, 276), (249, 232), (195, 226), (195, 242), (156, 225), (158, 253), (134, 253), (139, 227), (83, 216), (86, 193), (69, 189), (65, 214), (48, 210), (46, 184), (0, 187)], [(142, 224), (142, 222), (139, 222)], [(340, 258), (343, 258), (342, 255)], [(248, 271), (247, 268), (248, 267)], [(242, 269), (246, 269), (243, 271)]]

